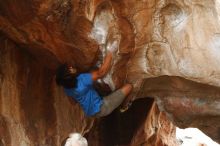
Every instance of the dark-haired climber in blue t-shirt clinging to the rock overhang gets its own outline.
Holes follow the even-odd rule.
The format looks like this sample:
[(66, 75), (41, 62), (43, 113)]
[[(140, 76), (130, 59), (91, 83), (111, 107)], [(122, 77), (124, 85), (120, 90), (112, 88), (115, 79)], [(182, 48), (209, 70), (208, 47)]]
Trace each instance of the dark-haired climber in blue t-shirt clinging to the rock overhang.
[(101, 97), (93, 87), (93, 82), (102, 78), (109, 71), (116, 43), (107, 47), (107, 54), (101, 67), (90, 73), (78, 74), (70, 64), (63, 64), (57, 69), (56, 82), (64, 87), (67, 96), (74, 98), (81, 105), (87, 116), (103, 117), (117, 108), (131, 92), (132, 85), (125, 84), (106, 97)]

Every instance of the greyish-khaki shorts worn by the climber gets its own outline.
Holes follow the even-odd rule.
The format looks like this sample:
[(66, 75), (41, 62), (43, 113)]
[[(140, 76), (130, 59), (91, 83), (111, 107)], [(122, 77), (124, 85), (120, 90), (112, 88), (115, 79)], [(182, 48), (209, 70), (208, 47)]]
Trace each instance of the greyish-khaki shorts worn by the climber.
[(109, 115), (114, 109), (116, 109), (124, 100), (125, 94), (121, 89), (113, 92), (112, 94), (103, 98), (103, 104), (101, 105), (100, 112), (96, 117), (103, 117)]

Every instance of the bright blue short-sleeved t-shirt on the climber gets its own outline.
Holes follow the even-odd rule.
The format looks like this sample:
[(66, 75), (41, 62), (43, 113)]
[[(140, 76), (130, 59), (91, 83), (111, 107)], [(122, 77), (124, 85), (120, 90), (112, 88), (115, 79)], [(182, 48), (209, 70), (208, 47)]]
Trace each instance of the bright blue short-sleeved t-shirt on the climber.
[(67, 96), (71, 96), (79, 102), (87, 116), (93, 116), (98, 113), (103, 103), (101, 97), (93, 88), (92, 83), (92, 74), (84, 73), (77, 76), (76, 88), (64, 88)]

